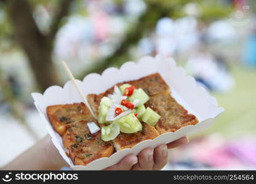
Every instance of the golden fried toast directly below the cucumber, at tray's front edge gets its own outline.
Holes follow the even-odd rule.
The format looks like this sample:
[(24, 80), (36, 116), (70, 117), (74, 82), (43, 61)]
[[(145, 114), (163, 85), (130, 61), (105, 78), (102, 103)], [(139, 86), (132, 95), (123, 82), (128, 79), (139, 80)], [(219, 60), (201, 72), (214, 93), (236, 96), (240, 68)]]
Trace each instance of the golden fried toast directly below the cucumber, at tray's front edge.
[(142, 122), (142, 127), (142, 131), (134, 134), (125, 134), (121, 132), (118, 137), (113, 140), (114, 148), (116, 148), (117, 151), (132, 148), (143, 140), (154, 139), (159, 136), (158, 131), (156, 131), (153, 126)]

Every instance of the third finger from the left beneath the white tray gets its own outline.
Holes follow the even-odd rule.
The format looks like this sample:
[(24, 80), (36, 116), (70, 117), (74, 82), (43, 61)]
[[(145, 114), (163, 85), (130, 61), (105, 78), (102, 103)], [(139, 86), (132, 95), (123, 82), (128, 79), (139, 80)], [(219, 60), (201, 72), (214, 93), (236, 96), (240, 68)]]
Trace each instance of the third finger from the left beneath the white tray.
[(161, 170), (168, 162), (167, 145), (162, 144), (154, 148), (154, 166), (153, 170)]

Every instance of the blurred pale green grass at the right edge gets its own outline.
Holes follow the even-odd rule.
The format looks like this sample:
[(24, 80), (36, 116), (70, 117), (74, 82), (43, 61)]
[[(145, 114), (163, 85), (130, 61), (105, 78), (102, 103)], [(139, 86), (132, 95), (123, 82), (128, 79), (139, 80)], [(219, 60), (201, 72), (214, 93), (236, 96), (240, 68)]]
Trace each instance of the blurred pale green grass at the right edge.
[(218, 132), (225, 137), (236, 138), (256, 134), (256, 69), (233, 64), (231, 73), (236, 81), (233, 91), (213, 94), (225, 112), (209, 129), (194, 136)]

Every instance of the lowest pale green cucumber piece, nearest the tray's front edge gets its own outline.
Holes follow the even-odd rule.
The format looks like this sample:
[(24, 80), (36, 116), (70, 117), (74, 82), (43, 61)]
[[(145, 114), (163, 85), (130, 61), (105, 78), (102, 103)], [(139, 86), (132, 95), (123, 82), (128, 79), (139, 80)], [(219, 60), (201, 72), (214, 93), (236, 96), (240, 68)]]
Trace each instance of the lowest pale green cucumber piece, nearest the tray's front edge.
[(104, 141), (113, 140), (118, 136), (119, 133), (120, 133), (119, 125), (112, 123), (111, 125), (104, 126), (102, 127), (102, 140)]

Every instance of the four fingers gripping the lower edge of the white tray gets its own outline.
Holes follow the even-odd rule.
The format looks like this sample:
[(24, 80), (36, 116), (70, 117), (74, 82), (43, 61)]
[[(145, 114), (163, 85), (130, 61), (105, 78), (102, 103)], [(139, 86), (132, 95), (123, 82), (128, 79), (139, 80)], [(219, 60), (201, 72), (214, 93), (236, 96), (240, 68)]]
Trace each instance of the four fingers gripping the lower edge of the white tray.
[(162, 144), (156, 148), (145, 148), (138, 156), (128, 155), (118, 164), (107, 167), (104, 170), (160, 170), (168, 162), (167, 148), (176, 148), (188, 143), (188, 137), (182, 137), (169, 144)]

